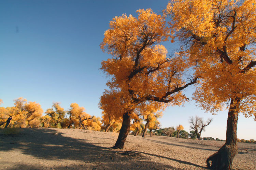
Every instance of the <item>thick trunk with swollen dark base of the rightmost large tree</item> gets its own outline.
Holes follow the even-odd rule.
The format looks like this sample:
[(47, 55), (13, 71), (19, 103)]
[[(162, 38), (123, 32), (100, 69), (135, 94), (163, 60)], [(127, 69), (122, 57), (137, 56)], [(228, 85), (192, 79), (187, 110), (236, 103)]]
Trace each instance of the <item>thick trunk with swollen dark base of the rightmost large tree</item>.
[(236, 112), (240, 99), (231, 99), (228, 111), (226, 143), (211, 155), (207, 160), (207, 167), (214, 170), (231, 170), (234, 156), (238, 153), (237, 149), (237, 121)]

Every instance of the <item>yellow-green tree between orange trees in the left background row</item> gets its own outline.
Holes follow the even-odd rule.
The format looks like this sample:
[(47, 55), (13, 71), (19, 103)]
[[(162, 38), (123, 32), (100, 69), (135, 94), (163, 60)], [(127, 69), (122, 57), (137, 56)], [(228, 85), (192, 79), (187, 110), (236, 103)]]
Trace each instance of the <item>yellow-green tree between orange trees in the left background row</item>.
[(60, 107), (59, 103), (53, 103), (52, 108), (48, 108), (45, 114), (51, 117), (51, 126), (53, 128), (62, 128), (61, 122), (65, 119), (66, 111)]

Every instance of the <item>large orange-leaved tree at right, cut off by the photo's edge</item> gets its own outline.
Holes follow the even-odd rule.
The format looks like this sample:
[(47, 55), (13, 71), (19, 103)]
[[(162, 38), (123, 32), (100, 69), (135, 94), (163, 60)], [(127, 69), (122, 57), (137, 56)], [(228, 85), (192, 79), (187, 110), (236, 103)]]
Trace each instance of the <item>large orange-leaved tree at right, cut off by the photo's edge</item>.
[(212, 113), (228, 109), (226, 142), (207, 159), (211, 169), (231, 169), (238, 153), (238, 115), (255, 116), (255, 3), (173, 0), (165, 11), (172, 37), (183, 43), (183, 54), (189, 55), (195, 75), (201, 78), (194, 99)]

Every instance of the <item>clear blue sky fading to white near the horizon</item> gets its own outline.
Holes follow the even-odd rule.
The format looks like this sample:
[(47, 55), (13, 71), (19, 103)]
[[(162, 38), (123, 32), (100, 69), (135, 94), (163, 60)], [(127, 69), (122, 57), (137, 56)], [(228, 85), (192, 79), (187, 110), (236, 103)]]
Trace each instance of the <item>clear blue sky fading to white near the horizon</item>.
[[(99, 47), (109, 21), (115, 16), (151, 8), (155, 13), (167, 0), (2, 0), (0, 1), (0, 99), (1, 107), (13, 106), (19, 97), (41, 104), (44, 111), (53, 102), (69, 109), (83, 106), (90, 115), (101, 117), (99, 97), (106, 88), (101, 61), (111, 56)], [(163, 43), (169, 53), (177, 46)], [(195, 87), (185, 89), (191, 99)], [(182, 124), (190, 131), (190, 116), (211, 117), (202, 137), (226, 138), (227, 111), (206, 113), (190, 100), (184, 106), (168, 107), (161, 127)], [(238, 138), (256, 139), (256, 121), (238, 119)]]

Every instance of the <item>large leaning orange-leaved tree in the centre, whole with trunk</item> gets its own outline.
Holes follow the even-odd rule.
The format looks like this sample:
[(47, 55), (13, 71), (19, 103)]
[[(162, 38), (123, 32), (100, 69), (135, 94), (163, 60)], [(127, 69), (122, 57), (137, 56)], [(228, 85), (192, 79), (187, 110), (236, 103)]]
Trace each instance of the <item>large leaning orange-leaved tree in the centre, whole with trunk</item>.
[(165, 18), (151, 9), (137, 13), (138, 18), (125, 14), (113, 18), (101, 43), (101, 49), (113, 56), (102, 61), (101, 69), (111, 78), (107, 85), (119, 90), (126, 100), (114, 148), (124, 147), (134, 109), (147, 103), (156, 110), (180, 105), (187, 100), (182, 90), (197, 81), (197, 77), (186, 79), (187, 60), (167, 56), (166, 48), (160, 45), (169, 37)]

